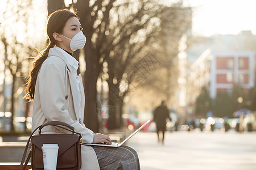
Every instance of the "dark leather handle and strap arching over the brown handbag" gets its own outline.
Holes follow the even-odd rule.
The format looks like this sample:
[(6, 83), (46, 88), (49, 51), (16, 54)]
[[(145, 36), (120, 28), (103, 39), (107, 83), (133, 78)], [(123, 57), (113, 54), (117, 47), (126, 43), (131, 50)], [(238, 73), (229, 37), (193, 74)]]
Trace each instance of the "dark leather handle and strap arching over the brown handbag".
[[(28, 161), (30, 160), (30, 157), (31, 157), (31, 150), (30, 150), (30, 153), (29, 153), (28, 156), (27, 156), (26, 163), (23, 165), (24, 160), (25, 160), (25, 158), (26, 158), (28, 145), (29, 145), (29, 143), (30, 143), (30, 140), (31, 140), (31, 138), (32, 138), (32, 135), (33, 135), (33, 134), (35, 133), (35, 131), (38, 130), (38, 129), (39, 129), (39, 134), (41, 134), (42, 128), (44, 128), (45, 126), (48, 126), (48, 125), (51, 125), (51, 126), (58, 126), (59, 128), (63, 128), (63, 129), (65, 129), (65, 130), (72, 131), (73, 134), (74, 134), (74, 133), (79, 134), (80, 137), (81, 137), (81, 138), (80, 138), (80, 144), (82, 143), (82, 134), (75, 132), (75, 131), (74, 131), (75, 128), (74, 128), (73, 126), (68, 125), (68, 124), (66, 124), (66, 123), (64, 123), (64, 122), (60, 122), (60, 121), (51, 121), (51, 122), (47, 122), (46, 124), (43, 124), (43, 125), (38, 126), (38, 128), (36, 128), (36, 129), (31, 133), (30, 137), (28, 138), (27, 145), (26, 145), (26, 148), (25, 148), (24, 153), (23, 153), (23, 156), (22, 156), (22, 161), (20, 162), (20, 165), (19, 165), (19, 170), (25, 169), (25, 168), (27, 167)], [(67, 128), (64, 128), (63, 126), (69, 128), (69, 129), (71, 129), (71, 130), (69, 130), (69, 129), (67, 129)]]

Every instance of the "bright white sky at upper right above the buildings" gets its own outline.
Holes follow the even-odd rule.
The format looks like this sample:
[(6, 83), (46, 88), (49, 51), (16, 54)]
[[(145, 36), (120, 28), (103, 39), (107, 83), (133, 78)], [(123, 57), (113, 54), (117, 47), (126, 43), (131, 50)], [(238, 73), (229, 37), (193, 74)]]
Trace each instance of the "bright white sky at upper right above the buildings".
[(238, 34), (242, 30), (256, 33), (254, 0), (185, 0), (192, 6), (192, 32), (195, 35)]

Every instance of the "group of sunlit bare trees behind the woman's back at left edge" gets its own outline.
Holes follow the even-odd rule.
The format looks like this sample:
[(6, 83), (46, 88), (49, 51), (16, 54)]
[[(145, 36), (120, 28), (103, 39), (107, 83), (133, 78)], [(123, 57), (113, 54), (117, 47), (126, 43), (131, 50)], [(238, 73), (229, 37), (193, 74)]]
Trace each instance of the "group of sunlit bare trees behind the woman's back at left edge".
[[(3, 88), (1, 89), (1, 111), (11, 112), (10, 129), (14, 131), (13, 120), (18, 108), (15, 107), (18, 103), (20, 94), (23, 94), (24, 79), (28, 75), (28, 65), (31, 61), (29, 56), (36, 55), (36, 48), (43, 41), (38, 41), (36, 37), (37, 29), (35, 23), (31, 20), (32, 11), (27, 10), (32, 8), (32, 1), (7, 1), (1, 14), (0, 19), (0, 37), (1, 37), (1, 56), (4, 71), (1, 73), (3, 78)], [(40, 11), (38, 11), (40, 12)], [(35, 14), (34, 14), (35, 16)], [(35, 31), (35, 32), (34, 32)], [(34, 35), (32, 35), (34, 34)], [(10, 80), (11, 78), (11, 80)], [(11, 87), (10, 96), (7, 94), (7, 87)], [(24, 116), (27, 117), (29, 104), (24, 101)], [(5, 120), (4, 120), (5, 121)], [(25, 121), (26, 124), (26, 121)], [(26, 126), (24, 126), (26, 130)]]

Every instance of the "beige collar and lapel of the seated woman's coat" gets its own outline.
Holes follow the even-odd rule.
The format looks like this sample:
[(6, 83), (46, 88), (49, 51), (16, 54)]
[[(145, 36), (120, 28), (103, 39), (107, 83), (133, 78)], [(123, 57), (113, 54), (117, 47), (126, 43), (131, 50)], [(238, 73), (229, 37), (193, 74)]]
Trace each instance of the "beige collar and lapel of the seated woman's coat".
[(71, 95), (72, 95), (72, 98), (73, 98), (73, 105), (74, 105), (74, 108), (75, 108), (77, 121), (79, 121), (79, 99), (78, 99), (79, 91), (77, 90), (76, 80), (73, 78), (72, 73), (70, 71), (71, 66), (69, 65), (67, 59), (65, 59), (65, 57), (63, 56), (63, 54), (59, 50), (56, 50), (56, 49), (53, 49), (53, 48), (49, 49), (48, 57), (49, 56), (60, 57), (66, 63), (66, 66), (68, 68), (67, 73), (68, 73), (69, 83), (70, 83), (70, 86), (71, 86)]

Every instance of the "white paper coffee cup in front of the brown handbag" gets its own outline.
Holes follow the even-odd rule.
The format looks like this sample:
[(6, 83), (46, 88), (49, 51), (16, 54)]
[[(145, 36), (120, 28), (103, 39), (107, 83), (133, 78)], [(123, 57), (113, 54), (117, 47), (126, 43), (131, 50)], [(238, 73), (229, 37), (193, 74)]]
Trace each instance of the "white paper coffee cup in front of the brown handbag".
[(56, 170), (59, 146), (57, 144), (43, 144), (44, 170)]

